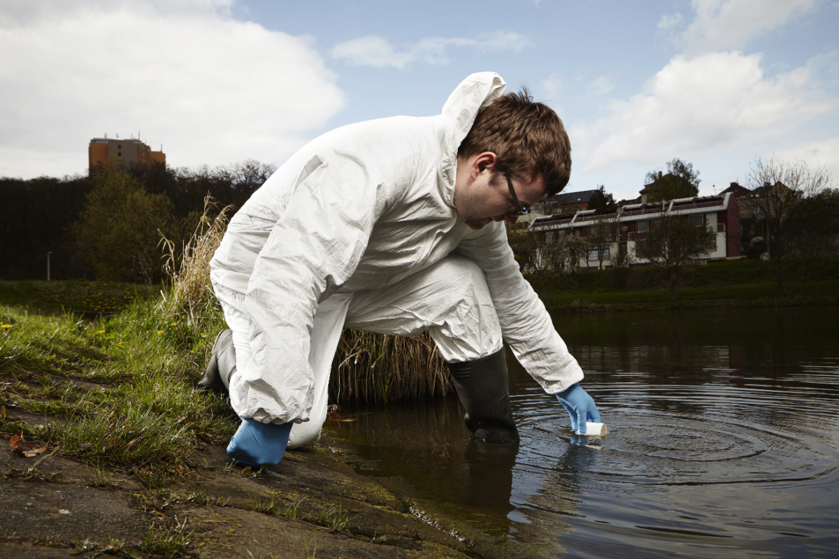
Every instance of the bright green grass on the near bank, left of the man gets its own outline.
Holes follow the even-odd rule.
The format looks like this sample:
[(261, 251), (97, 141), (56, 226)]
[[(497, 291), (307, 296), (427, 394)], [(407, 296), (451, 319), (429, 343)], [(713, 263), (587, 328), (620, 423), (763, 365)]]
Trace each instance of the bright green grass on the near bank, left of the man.
[[(235, 432), (227, 402), (195, 390), (220, 316), (194, 323), (146, 300), (96, 319), (7, 304), (0, 326), (2, 432), (87, 463), (169, 473), (187, 467), (197, 446)], [(15, 407), (50, 418), (13, 421)]]

